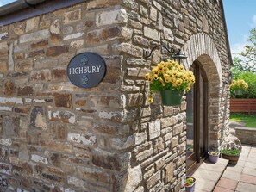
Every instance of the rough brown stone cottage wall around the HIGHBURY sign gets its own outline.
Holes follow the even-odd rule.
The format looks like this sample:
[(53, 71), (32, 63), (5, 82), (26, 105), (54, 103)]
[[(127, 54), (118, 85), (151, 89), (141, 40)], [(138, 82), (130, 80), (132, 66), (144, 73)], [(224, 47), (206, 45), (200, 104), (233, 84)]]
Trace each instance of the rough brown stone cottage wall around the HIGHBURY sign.
[[(182, 48), (198, 33), (214, 40), (226, 81), (216, 0), (94, 0), (2, 26), (0, 190), (184, 190), (186, 102), (147, 103), (143, 77), (161, 53), (143, 53), (153, 44)], [(83, 52), (107, 65), (91, 89), (66, 77), (69, 61)], [(211, 90), (221, 96), (212, 120), (218, 142), (228, 125), (226, 90)]]

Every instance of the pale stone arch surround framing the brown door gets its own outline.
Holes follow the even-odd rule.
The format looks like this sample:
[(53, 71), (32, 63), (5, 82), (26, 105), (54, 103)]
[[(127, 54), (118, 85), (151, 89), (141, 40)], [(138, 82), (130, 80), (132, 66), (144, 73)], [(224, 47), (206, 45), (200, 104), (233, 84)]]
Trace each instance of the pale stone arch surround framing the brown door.
[(222, 95), (222, 65), (214, 41), (207, 34), (195, 34), (183, 46), (183, 52), (188, 58), (185, 68), (197, 60), (208, 79), (208, 120), (209, 148), (218, 147), (222, 142), (221, 103)]

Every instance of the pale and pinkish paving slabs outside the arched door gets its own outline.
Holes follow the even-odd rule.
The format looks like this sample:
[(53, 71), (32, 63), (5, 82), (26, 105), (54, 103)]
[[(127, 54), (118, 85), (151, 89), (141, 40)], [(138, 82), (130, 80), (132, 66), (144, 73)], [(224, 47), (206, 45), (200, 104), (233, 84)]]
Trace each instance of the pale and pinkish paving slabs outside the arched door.
[(197, 179), (195, 192), (256, 191), (255, 158), (256, 146), (242, 145), (237, 164), (228, 164), (223, 158), (215, 164), (205, 161), (193, 174)]

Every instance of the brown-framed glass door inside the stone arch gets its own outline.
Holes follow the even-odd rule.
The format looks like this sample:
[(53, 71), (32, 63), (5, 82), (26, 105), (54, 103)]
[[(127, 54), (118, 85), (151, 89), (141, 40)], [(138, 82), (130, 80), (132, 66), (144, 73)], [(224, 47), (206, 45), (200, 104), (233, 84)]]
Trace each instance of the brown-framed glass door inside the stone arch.
[(197, 169), (208, 152), (208, 79), (203, 66), (196, 60), (190, 70), (194, 72), (196, 83), (187, 93), (187, 171)]

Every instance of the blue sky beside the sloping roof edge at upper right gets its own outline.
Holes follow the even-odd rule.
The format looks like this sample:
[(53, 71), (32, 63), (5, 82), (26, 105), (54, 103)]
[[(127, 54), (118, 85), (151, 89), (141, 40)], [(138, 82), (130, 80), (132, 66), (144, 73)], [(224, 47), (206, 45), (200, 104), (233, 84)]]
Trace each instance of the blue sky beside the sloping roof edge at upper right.
[(232, 53), (240, 53), (247, 45), (249, 31), (256, 28), (255, 0), (223, 0)]

